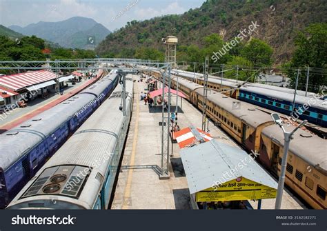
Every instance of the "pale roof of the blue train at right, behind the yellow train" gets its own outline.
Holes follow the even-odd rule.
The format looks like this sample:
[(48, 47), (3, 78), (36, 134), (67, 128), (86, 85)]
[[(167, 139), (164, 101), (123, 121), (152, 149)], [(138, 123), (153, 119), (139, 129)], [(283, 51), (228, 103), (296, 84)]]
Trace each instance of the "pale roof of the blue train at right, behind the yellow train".
[[(293, 94), (289, 94), (286, 92), (277, 92), (275, 90), (270, 90), (270, 89), (261, 89), (261, 88), (256, 88), (252, 86), (242, 86), (241, 90), (246, 90), (248, 92), (253, 92), (256, 94), (264, 94), (268, 97), (274, 98), (274, 99), (281, 99), (285, 101), (293, 101)], [(315, 103), (314, 103), (315, 102)], [(304, 97), (301, 95), (297, 95), (295, 97), (295, 103), (297, 104), (308, 104), (310, 103), (312, 108), (319, 108), (321, 110), (327, 110), (327, 101), (326, 100), (321, 100), (321, 99), (314, 99), (313, 97)]]

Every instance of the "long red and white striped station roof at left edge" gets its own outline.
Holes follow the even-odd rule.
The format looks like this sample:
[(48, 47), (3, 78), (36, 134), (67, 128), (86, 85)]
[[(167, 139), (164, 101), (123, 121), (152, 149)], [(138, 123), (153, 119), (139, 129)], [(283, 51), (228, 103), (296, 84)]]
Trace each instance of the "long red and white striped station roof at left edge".
[(0, 77), (0, 85), (11, 90), (19, 90), (34, 84), (43, 83), (56, 79), (56, 74), (48, 70), (38, 70), (34, 72), (24, 72), (21, 74), (11, 74)]

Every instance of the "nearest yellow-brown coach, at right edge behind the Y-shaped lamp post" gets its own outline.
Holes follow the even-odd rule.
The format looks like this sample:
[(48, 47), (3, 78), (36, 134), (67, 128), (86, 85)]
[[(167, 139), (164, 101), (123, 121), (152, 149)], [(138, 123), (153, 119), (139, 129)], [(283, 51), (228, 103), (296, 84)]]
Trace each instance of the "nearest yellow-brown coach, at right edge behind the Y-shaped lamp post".
[[(293, 125), (286, 130), (294, 130)], [(305, 130), (295, 132), (290, 142), (286, 165), (286, 184), (313, 208), (326, 209), (327, 141)], [(259, 159), (267, 168), (280, 174), (284, 154), (284, 134), (278, 125), (261, 132)]]

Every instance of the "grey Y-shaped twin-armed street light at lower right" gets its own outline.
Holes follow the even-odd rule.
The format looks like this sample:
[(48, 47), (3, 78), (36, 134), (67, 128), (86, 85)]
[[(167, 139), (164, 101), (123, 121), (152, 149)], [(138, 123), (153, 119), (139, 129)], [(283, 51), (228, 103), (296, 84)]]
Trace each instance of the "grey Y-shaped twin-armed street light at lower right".
[(290, 140), (293, 139), (293, 134), (301, 128), (306, 122), (308, 121), (302, 121), (299, 125), (297, 125), (297, 128), (295, 128), (292, 132), (286, 132), (284, 126), (283, 126), (283, 121), (279, 117), (279, 114), (277, 113), (272, 113), (271, 117), (273, 118), (273, 121), (279, 127), (281, 130), (284, 132), (284, 154), (283, 158), (281, 160), (281, 174), (279, 176), (278, 180), (278, 189), (277, 189), (277, 197), (276, 197), (276, 203), (275, 203), (275, 210), (280, 210), (281, 208), (281, 199), (283, 197), (283, 190), (284, 190), (284, 183), (285, 183), (285, 173), (286, 173), (286, 165), (287, 165), (287, 155), (288, 155), (288, 148), (290, 148)]

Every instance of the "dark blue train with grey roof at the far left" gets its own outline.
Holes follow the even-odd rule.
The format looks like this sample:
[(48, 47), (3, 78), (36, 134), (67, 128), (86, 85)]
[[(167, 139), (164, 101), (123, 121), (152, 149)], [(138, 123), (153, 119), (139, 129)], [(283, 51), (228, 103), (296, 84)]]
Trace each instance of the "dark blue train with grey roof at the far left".
[(0, 134), (0, 208), (23, 186), (112, 92), (115, 71), (74, 97)]

